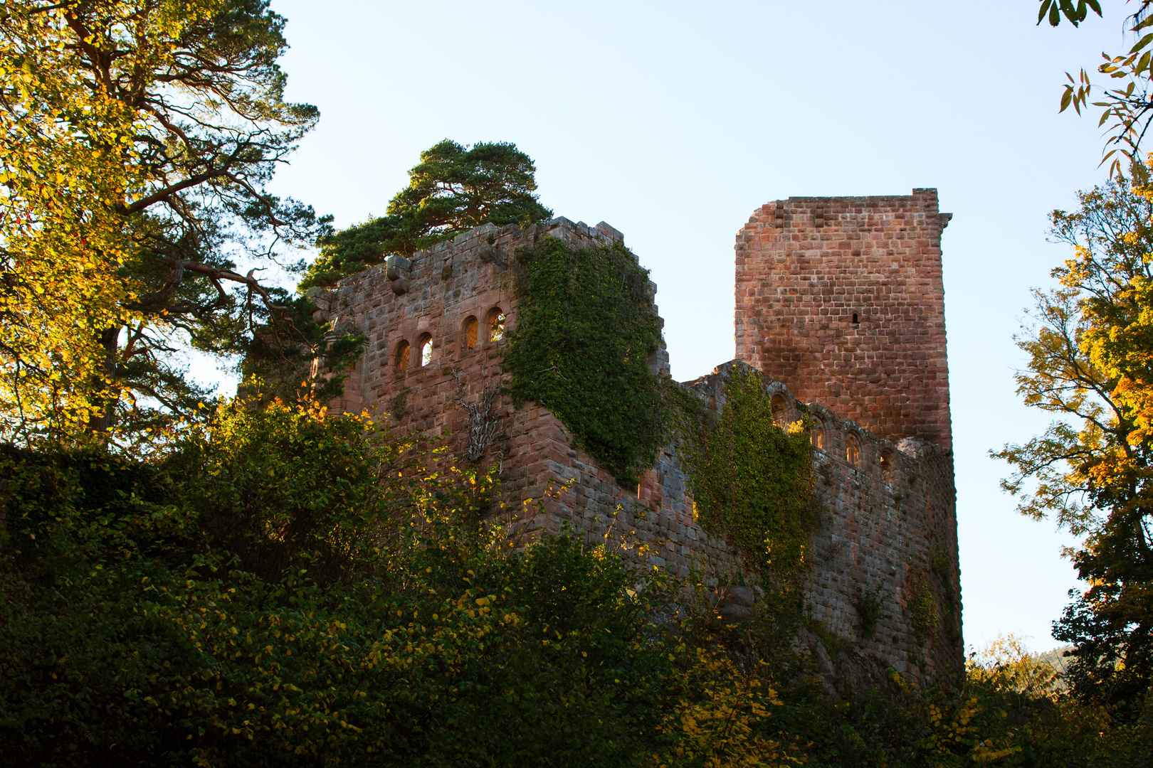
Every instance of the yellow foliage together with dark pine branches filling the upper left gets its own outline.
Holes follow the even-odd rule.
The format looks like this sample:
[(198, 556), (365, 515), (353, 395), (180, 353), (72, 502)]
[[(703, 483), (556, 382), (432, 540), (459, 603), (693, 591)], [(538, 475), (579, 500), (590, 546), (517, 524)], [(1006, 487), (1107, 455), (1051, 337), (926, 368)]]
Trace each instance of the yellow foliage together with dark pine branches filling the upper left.
[(164, 429), (205, 395), (179, 348), (309, 343), (257, 275), (325, 221), (265, 189), (317, 120), (284, 100), (284, 24), (267, 0), (0, 2), (5, 439)]

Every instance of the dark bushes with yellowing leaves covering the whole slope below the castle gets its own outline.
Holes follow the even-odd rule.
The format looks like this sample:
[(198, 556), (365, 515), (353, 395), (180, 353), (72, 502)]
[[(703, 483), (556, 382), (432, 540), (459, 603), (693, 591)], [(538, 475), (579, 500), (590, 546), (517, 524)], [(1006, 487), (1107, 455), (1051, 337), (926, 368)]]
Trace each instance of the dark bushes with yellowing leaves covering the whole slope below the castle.
[(782, 616), (738, 631), (605, 548), (512, 540), (480, 517), (489, 477), (363, 418), (235, 403), (163, 453), (5, 454), (0, 762), (1138, 766), (1153, 745), (1144, 716), (1011, 664), (835, 698)]

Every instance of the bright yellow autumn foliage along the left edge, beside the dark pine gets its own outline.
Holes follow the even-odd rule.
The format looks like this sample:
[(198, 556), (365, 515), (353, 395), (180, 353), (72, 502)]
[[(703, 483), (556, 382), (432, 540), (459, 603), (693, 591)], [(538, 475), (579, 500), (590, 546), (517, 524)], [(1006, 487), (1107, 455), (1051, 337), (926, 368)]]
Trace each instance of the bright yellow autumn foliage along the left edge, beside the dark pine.
[(175, 64), (174, 41), (221, 2), (105, 1), (98, 29), (68, 5), (0, 0), (0, 439), (25, 444), (99, 416), (113, 363), (100, 334), (141, 320), (123, 208), (148, 183), (134, 144), (148, 115), (121, 74)]

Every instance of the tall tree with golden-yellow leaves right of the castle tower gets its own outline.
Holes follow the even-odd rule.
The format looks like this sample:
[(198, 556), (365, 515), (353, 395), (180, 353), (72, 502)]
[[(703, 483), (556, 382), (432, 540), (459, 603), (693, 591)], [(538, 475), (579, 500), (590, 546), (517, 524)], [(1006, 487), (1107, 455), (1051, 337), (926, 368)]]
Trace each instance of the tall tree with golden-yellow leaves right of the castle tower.
[[(1019, 510), (1076, 534), (1070, 553), (1090, 584), (1054, 625), (1077, 646), (1069, 675), (1086, 697), (1140, 700), (1153, 682), (1153, 188), (1117, 178), (1053, 213), (1075, 256), (1034, 291), (1034, 322), (1017, 337), (1025, 403), (1048, 431), (995, 454)], [(1032, 484), (1032, 485), (1030, 485)]]

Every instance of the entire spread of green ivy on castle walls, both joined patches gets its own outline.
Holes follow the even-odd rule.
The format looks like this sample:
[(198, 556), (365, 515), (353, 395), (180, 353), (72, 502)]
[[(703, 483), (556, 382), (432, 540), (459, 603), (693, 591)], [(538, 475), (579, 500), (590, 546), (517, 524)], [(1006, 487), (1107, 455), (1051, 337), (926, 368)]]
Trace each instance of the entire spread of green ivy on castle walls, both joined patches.
[(648, 271), (619, 243), (574, 249), (545, 237), (517, 264), (520, 306), (504, 356), (514, 400), (551, 409), (623, 486), (679, 439), (701, 526), (753, 569), (798, 573), (817, 523), (812, 447), (802, 423), (777, 425), (761, 374), (734, 374), (716, 418), (649, 373), (661, 320)]

